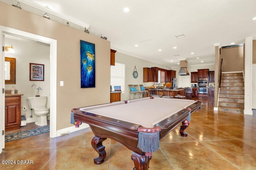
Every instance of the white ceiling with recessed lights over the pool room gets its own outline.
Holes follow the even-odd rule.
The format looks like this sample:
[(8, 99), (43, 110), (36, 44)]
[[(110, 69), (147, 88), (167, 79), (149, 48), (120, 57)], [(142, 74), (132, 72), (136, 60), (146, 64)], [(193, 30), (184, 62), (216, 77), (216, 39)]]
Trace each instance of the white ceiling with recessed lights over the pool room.
[[(256, 39), (256, 0), (0, 1), (20, 2), (22, 10), (40, 16), (47, 12), (51, 20), (86, 27), (90, 34), (107, 37), (120, 53), (167, 67), (184, 59), (188, 66), (214, 64), (217, 43), (238, 45), (247, 37)], [(123, 12), (124, 7), (130, 12)]]

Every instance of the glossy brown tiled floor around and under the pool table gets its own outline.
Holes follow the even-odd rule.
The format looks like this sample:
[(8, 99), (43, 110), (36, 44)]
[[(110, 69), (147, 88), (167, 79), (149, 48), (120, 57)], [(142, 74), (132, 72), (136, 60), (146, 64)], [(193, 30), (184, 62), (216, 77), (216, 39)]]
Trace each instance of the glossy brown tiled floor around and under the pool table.
[[(243, 115), (213, 111), (213, 99), (191, 116), (181, 137), (179, 126), (160, 140), (160, 148), (150, 160), (149, 170), (254, 170), (256, 169), (256, 114)], [(105, 162), (91, 146), (90, 128), (49, 138), (49, 133), (5, 143), (0, 160), (32, 160), (33, 164), (0, 165), (4, 170), (132, 170), (132, 151), (107, 139)]]

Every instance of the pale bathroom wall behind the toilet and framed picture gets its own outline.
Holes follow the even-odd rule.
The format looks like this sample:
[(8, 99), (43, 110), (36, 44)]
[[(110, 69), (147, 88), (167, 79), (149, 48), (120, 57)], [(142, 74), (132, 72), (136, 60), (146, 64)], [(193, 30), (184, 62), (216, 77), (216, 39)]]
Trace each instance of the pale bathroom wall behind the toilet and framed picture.
[[(26, 39), (23, 39), (26, 40)], [(14, 48), (15, 53), (5, 52), (6, 57), (16, 58), (16, 84), (5, 84), (5, 89), (11, 89), (14, 86), (21, 96), (21, 106), (25, 106), (25, 111), (21, 110), (21, 115), (26, 114), (27, 123), (35, 122), (36, 115), (30, 118), (31, 111), (28, 108), (27, 97), (35, 96), (37, 89), (31, 87), (36, 84), (42, 88), (39, 91), (41, 96), (47, 96), (47, 106), (50, 107), (50, 46), (34, 42), (32, 40), (23, 41), (22, 39), (14, 40), (12, 38), (5, 38), (5, 45)], [(44, 81), (30, 81), (29, 80), (29, 63), (44, 64)]]

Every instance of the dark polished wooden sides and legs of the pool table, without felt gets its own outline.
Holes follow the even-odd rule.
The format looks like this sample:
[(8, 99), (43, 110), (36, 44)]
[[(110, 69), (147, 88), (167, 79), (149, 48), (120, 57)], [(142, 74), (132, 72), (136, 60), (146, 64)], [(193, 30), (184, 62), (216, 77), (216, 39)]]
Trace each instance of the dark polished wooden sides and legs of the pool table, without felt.
[[(180, 133), (182, 136), (186, 136), (184, 130), (188, 127), (188, 124), (185, 125), (184, 119), (188, 117), (189, 112), (194, 113), (194, 111), (200, 109), (201, 103), (201, 101), (197, 101), (190, 105), (188, 107), (189, 109), (182, 109), (178, 113), (156, 124), (155, 126), (161, 128), (160, 139), (177, 127), (181, 122), (182, 126), (180, 128)], [(120, 142), (129, 150), (132, 150), (131, 159), (134, 161), (134, 170), (147, 170), (149, 168), (151, 156), (145, 156), (145, 153), (138, 148), (138, 127), (141, 125), (88, 113), (78, 109), (72, 109), (72, 112), (74, 113), (74, 119), (88, 123), (95, 135), (94, 138), (92, 138), (92, 147), (99, 154), (97, 158), (94, 158), (95, 164), (102, 164), (104, 162), (104, 159), (106, 158), (106, 150), (105, 146), (102, 145), (102, 142), (107, 138), (111, 138)]]

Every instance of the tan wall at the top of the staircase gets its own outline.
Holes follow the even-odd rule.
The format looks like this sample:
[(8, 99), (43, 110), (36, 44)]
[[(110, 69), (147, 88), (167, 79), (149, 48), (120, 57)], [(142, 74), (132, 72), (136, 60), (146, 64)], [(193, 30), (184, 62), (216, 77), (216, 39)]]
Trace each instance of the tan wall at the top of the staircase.
[(222, 72), (242, 71), (244, 67), (244, 47), (221, 49)]

